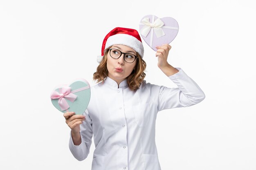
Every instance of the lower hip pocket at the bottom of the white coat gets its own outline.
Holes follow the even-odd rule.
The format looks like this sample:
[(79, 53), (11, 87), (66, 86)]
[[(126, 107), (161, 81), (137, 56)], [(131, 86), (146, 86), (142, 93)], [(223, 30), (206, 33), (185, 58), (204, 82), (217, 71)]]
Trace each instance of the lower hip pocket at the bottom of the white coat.
[(146, 170), (161, 170), (158, 156), (143, 154)]

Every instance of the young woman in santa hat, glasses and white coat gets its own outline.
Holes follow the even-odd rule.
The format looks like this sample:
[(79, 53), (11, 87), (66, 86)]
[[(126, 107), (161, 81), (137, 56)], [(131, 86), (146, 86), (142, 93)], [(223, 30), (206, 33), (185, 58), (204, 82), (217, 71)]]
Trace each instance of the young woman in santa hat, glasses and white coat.
[(167, 62), (171, 46), (157, 47), (157, 66), (178, 88), (146, 83), (144, 48), (134, 29), (117, 27), (103, 40), (94, 73), (97, 85), (83, 115), (64, 113), (71, 128), (69, 148), (87, 158), (94, 135), (92, 170), (161, 170), (155, 145), (157, 112), (188, 107), (204, 99), (200, 87), (181, 68)]

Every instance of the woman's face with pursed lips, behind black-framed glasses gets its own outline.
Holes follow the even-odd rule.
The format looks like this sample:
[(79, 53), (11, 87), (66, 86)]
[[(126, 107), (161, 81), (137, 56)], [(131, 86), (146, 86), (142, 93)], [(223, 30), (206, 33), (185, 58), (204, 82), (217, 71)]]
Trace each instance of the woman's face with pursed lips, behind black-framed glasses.
[[(137, 54), (134, 49), (125, 45), (113, 45), (111, 49), (118, 49), (122, 53), (131, 53), (135, 56)], [(108, 77), (115, 80), (118, 84), (132, 73), (137, 62), (137, 60), (132, 63), (124, 61), (124, 54), (118, 59), (114, 59), (110, 56), (110, 51), (108, 51), (107, 59)]]

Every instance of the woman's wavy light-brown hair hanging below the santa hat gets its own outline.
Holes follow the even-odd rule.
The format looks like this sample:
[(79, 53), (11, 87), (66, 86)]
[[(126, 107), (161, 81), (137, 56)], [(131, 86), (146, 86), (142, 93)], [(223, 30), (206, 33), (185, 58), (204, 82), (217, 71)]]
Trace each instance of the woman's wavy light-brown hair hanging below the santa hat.
[[(104, 51), (103, 59), (101, 60), (101, 63), (97, 67), (97, 70), (95, 73), (93, 73), (93, 79), (97, 83), (104, 82), (104, 79), (108, 76), (108, 69), (107, 69), (107, 55), (108, 55), (109, 49), (106, 49)], [(129, 86), (129, 89), (131, 91), (137, 91), (139, 88), (141, 82), (143, 82), (146, 73), (144, 71), (146, 70), (146, 62), (141, 58), (139, 53), (137, 53), (138, 56), (138, 62), (136, 63), (134, 69), (132, 70), (132, 73), (126, 77), (127, 84)]]

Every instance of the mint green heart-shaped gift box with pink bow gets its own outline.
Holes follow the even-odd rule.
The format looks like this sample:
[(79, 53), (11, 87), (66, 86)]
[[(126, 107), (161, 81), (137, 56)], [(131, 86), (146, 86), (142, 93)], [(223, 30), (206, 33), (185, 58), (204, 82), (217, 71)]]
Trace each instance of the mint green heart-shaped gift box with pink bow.
[(82, 78), (75, 79), (70, 85), (58, 85), (50, 98), (55, 108), (62, 113), (75, 112), (82, 115), (91, 97), (90, 84)]

